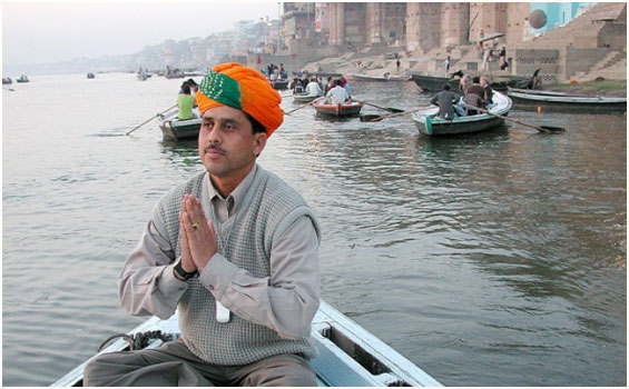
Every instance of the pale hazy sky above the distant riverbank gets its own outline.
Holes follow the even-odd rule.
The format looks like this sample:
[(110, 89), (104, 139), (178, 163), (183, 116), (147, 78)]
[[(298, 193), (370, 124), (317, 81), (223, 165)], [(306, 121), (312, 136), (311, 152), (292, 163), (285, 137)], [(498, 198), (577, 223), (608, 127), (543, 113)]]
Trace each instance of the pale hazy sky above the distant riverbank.
[(2, 1), (2, 63), (127, 54), (206, 37), (238, 20), (277, 19), (276, 1)]

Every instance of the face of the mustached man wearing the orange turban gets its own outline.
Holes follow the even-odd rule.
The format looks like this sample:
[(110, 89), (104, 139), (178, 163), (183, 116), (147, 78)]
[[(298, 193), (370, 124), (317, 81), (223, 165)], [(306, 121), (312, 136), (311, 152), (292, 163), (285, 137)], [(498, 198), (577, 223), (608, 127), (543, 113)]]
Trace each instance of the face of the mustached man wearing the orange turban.
[(253, 133), (245, 113), (232, 107), (205, 111), (199, 131), (199, 156), (218, 178), (244, 177), (266, 144), (266, 133)]

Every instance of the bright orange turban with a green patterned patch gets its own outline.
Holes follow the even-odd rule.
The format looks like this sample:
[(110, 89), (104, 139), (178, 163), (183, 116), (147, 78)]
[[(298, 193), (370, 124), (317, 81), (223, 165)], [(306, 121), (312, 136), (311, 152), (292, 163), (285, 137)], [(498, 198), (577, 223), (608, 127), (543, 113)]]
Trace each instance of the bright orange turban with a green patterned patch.
[(257, 120), (268, 137), (284, 121), (279, 93), (259, 71), (239, 63), (212, 68), (199, 83), (196, 99), (202, 116), (214, 107), (239, 109)]

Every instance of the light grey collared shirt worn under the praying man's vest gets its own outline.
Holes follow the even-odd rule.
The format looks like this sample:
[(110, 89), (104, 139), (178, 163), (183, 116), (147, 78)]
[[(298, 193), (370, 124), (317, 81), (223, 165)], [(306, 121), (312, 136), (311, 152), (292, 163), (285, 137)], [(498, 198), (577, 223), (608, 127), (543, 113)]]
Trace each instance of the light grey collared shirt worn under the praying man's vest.
[[(214, 188), (209, 174), (206, 176), (207, 194), (220, 236), (229, 233), (238, 209), (248, 206), (243, 199), (257, 169), (255, 166), (226, 199)], [(131, 315), (168, 318), (187, 289), (187, 282), (173, 273), (179, 259), (175, 260), (166, 236), (164, 226), (150, 220), (124, 266), (118, 281), (120, 302)], [(296, 339), (307, 332), (318, 309), (317, 249), (313, 222), (302, 216), (272, 242), (269, 277), (256, 278), (217, 252), (200, 272), (199, 281), (233, 313), (266, 326), (282, 338)], [(135, 273), (138, 276), (132, 277)]]

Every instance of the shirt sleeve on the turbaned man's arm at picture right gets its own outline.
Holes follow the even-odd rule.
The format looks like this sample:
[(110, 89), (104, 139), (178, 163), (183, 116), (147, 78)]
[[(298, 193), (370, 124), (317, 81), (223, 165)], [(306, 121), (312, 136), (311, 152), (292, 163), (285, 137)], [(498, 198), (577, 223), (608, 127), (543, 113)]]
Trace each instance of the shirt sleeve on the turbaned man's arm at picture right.
[(256, 278), (216, 253), (200, 282), (233, 313), (281, 338), (297, 339), (309, 332), (320, 305), (318, 239), (312, 220), (299, 217), (272, 245), (271, 277)]

